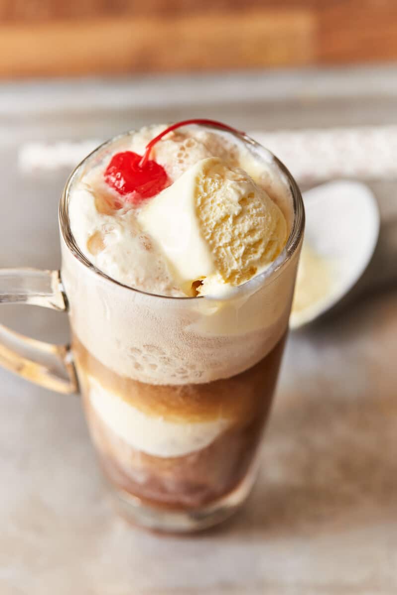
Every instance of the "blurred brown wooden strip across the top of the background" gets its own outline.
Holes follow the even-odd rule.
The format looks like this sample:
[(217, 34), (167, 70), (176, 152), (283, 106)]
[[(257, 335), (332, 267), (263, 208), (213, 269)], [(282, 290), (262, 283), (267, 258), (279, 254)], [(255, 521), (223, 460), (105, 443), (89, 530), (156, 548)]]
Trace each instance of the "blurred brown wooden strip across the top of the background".
[(397, 60), (397, 0), (0, 0), (0, 77)]

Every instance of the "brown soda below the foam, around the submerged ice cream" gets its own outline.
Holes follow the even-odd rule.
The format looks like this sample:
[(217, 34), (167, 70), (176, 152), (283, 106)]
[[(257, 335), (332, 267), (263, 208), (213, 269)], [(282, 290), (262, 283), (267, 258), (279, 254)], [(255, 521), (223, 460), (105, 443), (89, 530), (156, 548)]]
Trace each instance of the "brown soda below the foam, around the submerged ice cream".
[[(75, 340), (74, 353), (90, 433), (108, 479), (151, 506), (173, 509), (198, 509), (234, 490), (254, 460), (270, 411), (284, 343), (285, 337), (258, 364), (241, 374), (211, 383), (183, 385), (181, 392), (179, 385), (158, 386), (123, 379), (100, 364)], [(204, 449), (168, 458), (148, 455), (120, 439), (96, 414), (90, 405), (87, 375), (134, 406), (139, 406), (142, 398), (148, 396), (152, 415), (158, 409), (164, 415), (168, 396), (168, 403), (172, 404), (171, 419), (175, 419), (175, 405), (179, 403), (181, 423), (191, 423), (195, 409), (196, 413), (200, 411), (204, 415), (200, 415), (200, 419), (193, 416), (194, 421), (208, 419), (200, 400), (202, 397), (207, 401), (210, 394), (217, 398), (217, 411), (223, 406), (227, 411), (232, 402), (233, 414), (237, 415), (230, 418), (227, 430)], [(222, 395), (224, 403), (220, 400)], [(156, 396), (160, 399), (158, 407)], [(147, 412), (145, 403), (143, 405), (139, 409)], [(213, 403), (211, 405), (213, 407)]]

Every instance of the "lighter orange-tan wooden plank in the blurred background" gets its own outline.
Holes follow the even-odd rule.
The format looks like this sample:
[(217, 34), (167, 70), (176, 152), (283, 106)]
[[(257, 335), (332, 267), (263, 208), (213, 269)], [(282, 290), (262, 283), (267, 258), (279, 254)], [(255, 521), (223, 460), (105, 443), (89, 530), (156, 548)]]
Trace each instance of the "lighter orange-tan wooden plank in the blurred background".
[(314, 39), (302, 10), (13, 23), (0, 26), (0, 76), (302, 65)]

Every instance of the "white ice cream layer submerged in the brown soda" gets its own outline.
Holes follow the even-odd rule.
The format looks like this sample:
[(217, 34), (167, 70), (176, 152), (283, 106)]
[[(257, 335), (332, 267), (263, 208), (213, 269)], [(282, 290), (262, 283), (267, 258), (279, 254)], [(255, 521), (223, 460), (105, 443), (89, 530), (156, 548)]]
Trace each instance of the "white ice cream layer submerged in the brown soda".
[(105, 390), (89, 377), (89, 398), (96, 414), (119, 438), (148, 455), (184, 456), (204, 449), (226, 429), (226, 419), (196, 423), (173, 423), (151, 417)]

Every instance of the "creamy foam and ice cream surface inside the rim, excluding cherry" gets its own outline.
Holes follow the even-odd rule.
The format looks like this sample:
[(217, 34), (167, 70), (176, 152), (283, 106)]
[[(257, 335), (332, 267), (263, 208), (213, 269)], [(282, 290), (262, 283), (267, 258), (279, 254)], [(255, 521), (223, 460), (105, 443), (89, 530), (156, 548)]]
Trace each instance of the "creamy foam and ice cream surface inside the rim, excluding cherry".
[[(286, 187), (277, 196), (267, 193), (280, 177), (274, 164), (241, 142), (204, 130), (170, 133), (152, 149), (168, 176), (158, 196), (137, 203), (106, 183), (112, 155), (120, 149), (142, 154), (161, 128), (142, 129), (122, 147), (117, 143), (105, 162), (87, 167), (75, 181), (68, 211), (79, 249), (120, 283), (158, 295), (195, 295), (192, 284), (208, 276), (210, 289), (204, 291), (204, 284), (202, 293), (216, 293), (217, 278), (223, 290), (225, 283), (236, 286), (260, 273), (285, 245), (282, 209), (290, 205)], [(182, 235), (197, 241), (185, 246)], [(174, 246), (167, 250), (170, 239)], [(181, 278), (183, 266), (191, 270)]]

